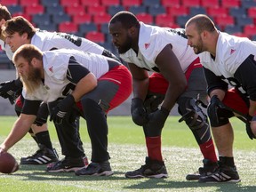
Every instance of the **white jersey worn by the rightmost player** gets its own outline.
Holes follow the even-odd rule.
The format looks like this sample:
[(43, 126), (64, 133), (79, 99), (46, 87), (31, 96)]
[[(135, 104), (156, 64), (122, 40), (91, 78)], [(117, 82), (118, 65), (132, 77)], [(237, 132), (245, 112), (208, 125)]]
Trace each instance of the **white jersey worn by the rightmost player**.
[(215, 59), (212, 59), (210, 52), (202, 52), (199, 57), (204, 68), (210, 69), (216, 76), (229, 78), (234, 77), (236, 69), (251, 54), (256, 55), (256, 44), (251, 40), (219, 32)]

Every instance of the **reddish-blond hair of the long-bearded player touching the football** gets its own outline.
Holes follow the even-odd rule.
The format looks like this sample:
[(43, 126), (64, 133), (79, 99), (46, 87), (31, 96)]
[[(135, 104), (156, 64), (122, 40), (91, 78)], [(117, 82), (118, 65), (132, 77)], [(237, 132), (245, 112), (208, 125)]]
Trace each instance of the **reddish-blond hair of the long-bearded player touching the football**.
[(35, 45), (33, 44), (23, 44), (21, 45), (16, 52), (13, 54), (13, 62), (15, 62), (20, 58), (24, 58), (25, 60), (31, 62), (33, 58), (37, 60), (43, 60), (43, 52), (40, 51)]

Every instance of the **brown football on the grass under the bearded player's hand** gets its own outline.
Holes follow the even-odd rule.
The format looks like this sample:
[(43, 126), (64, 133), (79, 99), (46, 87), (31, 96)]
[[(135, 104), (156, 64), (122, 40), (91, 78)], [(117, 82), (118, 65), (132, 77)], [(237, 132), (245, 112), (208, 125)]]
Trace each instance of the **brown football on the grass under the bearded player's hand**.
[(19, 170), (19, 164), (12, 154), (8, 152), (0, 153), (0, 172), (12, 173)]

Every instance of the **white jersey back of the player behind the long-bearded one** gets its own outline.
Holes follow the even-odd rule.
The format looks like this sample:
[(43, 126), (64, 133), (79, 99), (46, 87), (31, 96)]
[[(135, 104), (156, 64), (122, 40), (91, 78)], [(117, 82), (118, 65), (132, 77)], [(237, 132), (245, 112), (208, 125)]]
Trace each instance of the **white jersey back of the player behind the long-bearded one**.
[(104, 51), (104, 47), (95, 44), (86, 38), (44, 30), (36, 31), (36, 34), (31, 39), (31, 44), (34, 44), (42, 52), (61, 48), (76, 49), (96, 54), (102, 54)]

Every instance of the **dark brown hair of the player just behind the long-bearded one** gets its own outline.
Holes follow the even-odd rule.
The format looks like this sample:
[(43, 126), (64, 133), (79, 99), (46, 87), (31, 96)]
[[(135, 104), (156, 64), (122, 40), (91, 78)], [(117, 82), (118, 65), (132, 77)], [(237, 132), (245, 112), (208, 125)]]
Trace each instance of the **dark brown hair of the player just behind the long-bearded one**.
[(28, 39), (31, 39), (32, 36), (36, 34), (36, 28), (22, 16), (13, 17), (11, 20), (6, 20), (3, 28), (4, 35), (12, 35), (14, 33), (19, 33), (23, 35), (24, 33), (28, 34)]

